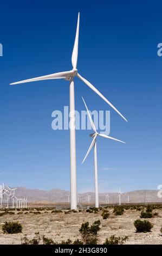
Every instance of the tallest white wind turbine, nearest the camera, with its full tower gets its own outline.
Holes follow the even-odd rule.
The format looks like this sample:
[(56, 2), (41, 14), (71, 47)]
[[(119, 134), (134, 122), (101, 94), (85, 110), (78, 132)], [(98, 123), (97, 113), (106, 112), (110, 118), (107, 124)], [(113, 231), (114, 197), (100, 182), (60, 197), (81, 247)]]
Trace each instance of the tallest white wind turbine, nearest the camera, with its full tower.
[(103, 100), (105, 100), (119, 115), (121, 115), (122, 118), (124, 118), (126, 120), (126, 118), (118, 111), (118, 109), (116, 109), (112, 105), (112, 103), (109, 102), (106, 99), (106, 97), (103, 96), (99, 92), (99, 90), (97, 90), (91, 83), (89, 83), (85, 78), (83, 78), (77, 72), (76, 65), (77, 65), (77, 53), (78, 53), (78, 41), (79, 41), (79, 22), (80, 22), (80, 14), (78, 14), (78, 17), (77, 17), (76, 35), (75, 35), (74, 48), (73, 48), (73, 53), (72, 53), (72, 65), (73, 65), (72, 70), (11, 83), (11, 84), (19, 84), (19, 83), (41, 81), (41, 80), (60, 79), (60, 78), (64, 78), (65, 80), (70, 82), (70, 114), (69, 114), (69, 117), (70, 117), (70, 208), (71, 209), (77, 208), (74, 77), (77, 76), (78, 78), (80, 78), (81, 81), (86, 83), (90, 89), (92, 89)]

